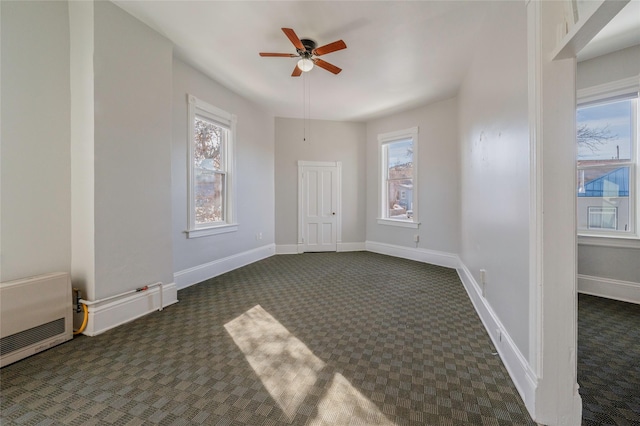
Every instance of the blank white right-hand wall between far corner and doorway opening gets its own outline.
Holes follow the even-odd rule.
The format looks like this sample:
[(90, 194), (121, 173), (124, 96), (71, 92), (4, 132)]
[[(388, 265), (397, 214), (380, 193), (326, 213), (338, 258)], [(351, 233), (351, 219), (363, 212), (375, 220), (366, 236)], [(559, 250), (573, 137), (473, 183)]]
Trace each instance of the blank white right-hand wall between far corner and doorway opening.
[[(496, 18), (496, 16), (494, 16)], [(526, 11), (500, 3), (491, 42), (460, 89), (461, 250), (523, 354), (529, 350), (529, 127)]]

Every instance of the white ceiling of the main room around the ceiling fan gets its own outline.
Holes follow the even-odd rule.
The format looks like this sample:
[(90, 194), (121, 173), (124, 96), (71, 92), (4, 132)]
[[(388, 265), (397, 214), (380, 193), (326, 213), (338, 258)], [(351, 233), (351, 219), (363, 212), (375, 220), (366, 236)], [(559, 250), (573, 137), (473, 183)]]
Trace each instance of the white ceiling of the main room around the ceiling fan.
[[(634, 1), (638, 3), (638, 1)], [(453, 96), (483, 42), (491, 1), (129, 1), (114, 3), (175, 45), (178, 57), (275, 116), (361, 121)], [(291, 77), (281, 31), (318, 46), (343, 71)]]

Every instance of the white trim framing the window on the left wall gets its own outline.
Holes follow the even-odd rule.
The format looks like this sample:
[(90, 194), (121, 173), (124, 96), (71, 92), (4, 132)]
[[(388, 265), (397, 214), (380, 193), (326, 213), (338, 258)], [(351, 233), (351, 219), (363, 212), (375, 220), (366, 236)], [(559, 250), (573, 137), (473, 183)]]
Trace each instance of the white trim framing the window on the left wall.
[[(228, 232), (235, 232), (238, 230), (238, 224), (236, 221), (235, 212), (235, 138), (236, 138), (236, 123), (237, 117), (227, 111), (217, 108), (201, 99), (196, 98), (193, 95), (187, 95), (187, 115), (188, 115), (188, 134), (187, 134), (187, 202), (188, 202), (188, 214), (187, 214), (187, 238), (198, 238), (209, 235), (225, 234)], [(226, 191), (225, 191), (225, 218), (224, 223), (204, 224), (196, 225), (196, 213), (195, 213), (195, 192), (194, 192), (194, 170), (193, 170), (193, 153), (194, 153), (194, 121), (196, 113), (203, 117), (209, 118), (222, 127), (229, 129), (229, 137), (226, 141), (226, 147), (223, 150), (225, 155), (226, 165)]]

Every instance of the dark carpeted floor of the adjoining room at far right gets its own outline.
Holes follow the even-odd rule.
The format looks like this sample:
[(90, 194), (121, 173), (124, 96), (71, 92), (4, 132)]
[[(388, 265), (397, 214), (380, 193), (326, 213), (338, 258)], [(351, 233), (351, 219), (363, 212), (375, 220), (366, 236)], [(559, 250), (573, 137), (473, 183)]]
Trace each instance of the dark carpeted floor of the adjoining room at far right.
[(640, 425), (640, 305), (578, 295), (583, 425)]

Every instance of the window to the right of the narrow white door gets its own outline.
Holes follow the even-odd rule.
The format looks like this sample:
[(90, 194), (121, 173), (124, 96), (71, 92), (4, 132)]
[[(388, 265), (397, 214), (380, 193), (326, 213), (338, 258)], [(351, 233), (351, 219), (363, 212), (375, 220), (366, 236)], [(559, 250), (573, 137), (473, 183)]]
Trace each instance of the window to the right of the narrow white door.
[(378, 135), (380, 213), (378, 223), (417, 228), (418, 128)]

